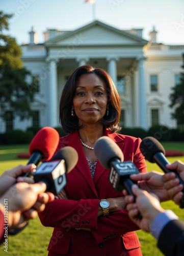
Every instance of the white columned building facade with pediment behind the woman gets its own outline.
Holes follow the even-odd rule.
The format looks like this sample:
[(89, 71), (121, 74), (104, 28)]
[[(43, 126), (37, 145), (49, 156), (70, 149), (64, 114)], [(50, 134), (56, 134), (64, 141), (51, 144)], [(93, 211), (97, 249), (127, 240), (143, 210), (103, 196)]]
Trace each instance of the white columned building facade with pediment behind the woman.
[(121, 98), (124, 127), (177, 127), (171, 119), (169, 95), (182, 72), (184, 45), (157, 44), (154, 29), (147, 41), (142, 38), (142, 29), (122, 31), (98, 21), (74, 31), (48, 30), (44, 35), (45, 42), (35, 44), (32, 30), (30, 44), (21, 46), (24, 67), (38, 81), (34, 116), (24, 121), (18, 117), (1, 121), (0, 133), (6, 132), (10, 123), (13, 130), (23, 131), (33, 125), (61, 126), (62, 89), (75, 68), (85, 63), (111, 75)]

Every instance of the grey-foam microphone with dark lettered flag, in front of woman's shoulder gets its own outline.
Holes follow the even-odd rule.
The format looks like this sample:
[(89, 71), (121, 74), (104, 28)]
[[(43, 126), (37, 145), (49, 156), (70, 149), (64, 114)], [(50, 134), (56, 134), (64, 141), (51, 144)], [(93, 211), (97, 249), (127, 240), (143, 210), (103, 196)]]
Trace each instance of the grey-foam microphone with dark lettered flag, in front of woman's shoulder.
[(129, 178), (131, 174), (139, 173), (134, 163), (131, 161), (123, 162), (124, 156), (119, 146), (107, 136), (102, 136), (96, 141), (94, 152), (102, 166), (110, 169), (109, 180), (114, 189), (118, 192), (125, 188), (135, 200), (136, 196), (132, 191), (132, 185), (135, 182)]

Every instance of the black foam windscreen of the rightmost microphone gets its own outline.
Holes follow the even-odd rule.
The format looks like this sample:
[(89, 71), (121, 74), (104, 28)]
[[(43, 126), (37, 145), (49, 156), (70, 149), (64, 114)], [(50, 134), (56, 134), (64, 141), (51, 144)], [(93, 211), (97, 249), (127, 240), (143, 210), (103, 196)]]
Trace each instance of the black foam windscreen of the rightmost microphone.
[(145, 137), (140, 144), (140, 150), (143, 156), (151, 163), (154, 163), (154, 155), (156, 153), (163, 153), (165, 150), (163, 145), (153, 137)]

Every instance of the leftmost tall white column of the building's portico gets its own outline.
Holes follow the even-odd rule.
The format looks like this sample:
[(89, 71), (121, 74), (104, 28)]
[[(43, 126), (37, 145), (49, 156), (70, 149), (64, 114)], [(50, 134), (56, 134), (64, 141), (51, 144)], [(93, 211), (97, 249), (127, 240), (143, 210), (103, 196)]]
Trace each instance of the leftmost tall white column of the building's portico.
[(56, 127), (59, 120), (57, 60), (49, 60), (48, 72), (48, 126)]

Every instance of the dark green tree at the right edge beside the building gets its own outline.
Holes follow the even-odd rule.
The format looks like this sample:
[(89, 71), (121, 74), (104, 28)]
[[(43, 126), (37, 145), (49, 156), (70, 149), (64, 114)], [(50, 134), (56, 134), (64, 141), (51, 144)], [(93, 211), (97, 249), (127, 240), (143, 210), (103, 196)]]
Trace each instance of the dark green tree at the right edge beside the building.
[[(183, 65), (184, 69), (184, 54), (183, 54)], [(184, 125), (184, 73), (181, 73), (180, 82), (172, 88), (172, 93), (170, 94), (170, 108), (175, 107), (174, 112), (171, 114), (173, 119), (176, 119), (177, 124), (182, 127)]]

